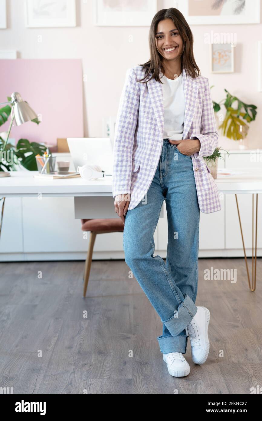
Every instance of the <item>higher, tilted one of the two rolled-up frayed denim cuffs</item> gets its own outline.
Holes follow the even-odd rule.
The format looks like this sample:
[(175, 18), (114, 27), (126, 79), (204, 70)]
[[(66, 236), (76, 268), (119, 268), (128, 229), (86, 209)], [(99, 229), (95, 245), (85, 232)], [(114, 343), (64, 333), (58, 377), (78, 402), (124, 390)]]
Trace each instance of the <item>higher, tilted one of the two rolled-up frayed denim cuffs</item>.
[(168, 320), (161, 320), (161, 322), (167, 326), (172, 336), (177, 336), (191, 322), (196, 312), (197, 306), (188, 294), (185, 294), (185, 298), (174, 312), (174, 316)]

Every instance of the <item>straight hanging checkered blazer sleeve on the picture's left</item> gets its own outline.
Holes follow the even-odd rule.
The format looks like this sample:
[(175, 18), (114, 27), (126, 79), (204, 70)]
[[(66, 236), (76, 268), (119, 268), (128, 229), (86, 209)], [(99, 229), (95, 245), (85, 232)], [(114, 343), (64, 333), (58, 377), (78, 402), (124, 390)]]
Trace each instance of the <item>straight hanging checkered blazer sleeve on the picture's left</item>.
[(131, 193), (132, 152), (138, 121), (140, 85), (128, 69), (116, 117), (114, 136), (113, 197)]

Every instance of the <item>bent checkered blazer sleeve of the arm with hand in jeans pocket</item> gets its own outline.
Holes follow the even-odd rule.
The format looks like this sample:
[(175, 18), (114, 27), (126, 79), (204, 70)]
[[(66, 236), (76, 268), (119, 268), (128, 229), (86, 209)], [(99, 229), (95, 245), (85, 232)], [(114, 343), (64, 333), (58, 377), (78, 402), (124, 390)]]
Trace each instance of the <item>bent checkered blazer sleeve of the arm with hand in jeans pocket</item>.
[(218, 143), (218, 132), (214, 117), (214, 108), (211, 98), (209, 80), (206, 81), (206, 89), (203, 95), (203, 107), (201, 117), (201, 133), (193, 134), (190, 139), (199, 139), (201, 147), (194, 154), (196, 159), (212, 155)]

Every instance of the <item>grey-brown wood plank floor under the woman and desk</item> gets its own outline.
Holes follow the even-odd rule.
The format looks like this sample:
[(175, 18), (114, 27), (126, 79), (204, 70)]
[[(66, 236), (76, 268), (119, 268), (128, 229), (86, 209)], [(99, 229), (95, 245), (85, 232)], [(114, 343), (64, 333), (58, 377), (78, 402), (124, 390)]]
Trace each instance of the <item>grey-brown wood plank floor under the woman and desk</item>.
[[(249, 259), (250, 263), (250, 259)], [(237, 269), (237, 282), (206, 281), (204, 269)], [(0, 264), (0, 386), (13, 393), (250, 394), (262, 387), (262, 258), (257, 289), (243, 259), (200, 259), (196, 305), (210, 310), (204, 365), (167, 372), (159, 316), (124, 261)], [(42, 271), (42, 279), (38, 272)]]

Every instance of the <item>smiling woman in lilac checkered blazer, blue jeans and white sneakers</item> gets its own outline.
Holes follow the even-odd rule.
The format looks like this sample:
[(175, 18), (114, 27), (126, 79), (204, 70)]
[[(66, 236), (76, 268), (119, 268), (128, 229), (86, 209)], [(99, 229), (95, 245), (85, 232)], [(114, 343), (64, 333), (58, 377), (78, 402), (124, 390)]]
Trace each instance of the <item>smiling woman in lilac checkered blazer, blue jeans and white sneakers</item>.
[[(127, 71), (116, 120), (113, 197), (124, 222), (125, 261), (163, 323), (158, 337), (172, 376), (187, 376), (209, 353), (209, 310), (196, 306), (199, 213), (221, 209), (204, 156), (218, 133), (209, 80), (193, 56), (193, 35), (175, 8), (156, 13), (151, 59)], [(166, 263), (153, 234), (166, 201)]]

